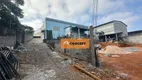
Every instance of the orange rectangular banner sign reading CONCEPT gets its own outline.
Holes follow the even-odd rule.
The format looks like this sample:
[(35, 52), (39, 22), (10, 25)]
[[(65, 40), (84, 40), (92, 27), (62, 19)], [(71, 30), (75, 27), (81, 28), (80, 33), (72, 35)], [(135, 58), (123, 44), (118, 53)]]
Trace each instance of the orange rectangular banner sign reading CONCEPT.
[(61, 48), (66, 49), (87, 49), (89, 39), (61, 39)]

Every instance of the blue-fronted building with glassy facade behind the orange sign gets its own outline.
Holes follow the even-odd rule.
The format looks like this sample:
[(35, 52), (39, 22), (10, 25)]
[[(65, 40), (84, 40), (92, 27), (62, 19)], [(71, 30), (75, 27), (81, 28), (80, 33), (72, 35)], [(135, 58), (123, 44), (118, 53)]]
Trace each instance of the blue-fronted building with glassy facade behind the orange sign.
[(46, 18), (43, 33), (45, 40), (57, 40), (62, 37), (83, 38), (86, 37), (87, 30), (84, 25)]

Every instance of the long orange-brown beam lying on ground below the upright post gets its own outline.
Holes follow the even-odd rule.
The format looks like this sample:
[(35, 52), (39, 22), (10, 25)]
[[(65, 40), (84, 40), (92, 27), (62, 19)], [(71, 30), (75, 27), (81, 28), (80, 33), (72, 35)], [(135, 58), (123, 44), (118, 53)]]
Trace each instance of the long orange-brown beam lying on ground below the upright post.
[(92, 73), (86, 71), (84, 68), (80, 67), (79, 64), (74, 64), (73, 66), (74, 66), (75, 68), (77, 68), (78, 70), (80, 70), (81, 72), (83, 72), (83, 73), (87, 74), (88, 76), (92, 77), (93, 79), (95, 79), (95, 80), (101, 80), (100, 78), (98, 78), (98, 77), (95, 76), (94, 74), (92, 74)]

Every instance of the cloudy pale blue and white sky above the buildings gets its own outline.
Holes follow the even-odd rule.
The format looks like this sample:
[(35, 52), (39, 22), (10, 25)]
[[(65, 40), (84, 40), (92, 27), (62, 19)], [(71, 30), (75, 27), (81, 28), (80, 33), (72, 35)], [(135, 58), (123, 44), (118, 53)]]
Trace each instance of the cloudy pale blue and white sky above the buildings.
[[(22, 24), (37, 30), (45, 17), (90, 26), (93, 24), (93, 0), (24, 0), (21, 6)], [(99, 0), (98, 25), (120, 20), (128, 25), (128, 31), (142, 30), (142, 0)]]

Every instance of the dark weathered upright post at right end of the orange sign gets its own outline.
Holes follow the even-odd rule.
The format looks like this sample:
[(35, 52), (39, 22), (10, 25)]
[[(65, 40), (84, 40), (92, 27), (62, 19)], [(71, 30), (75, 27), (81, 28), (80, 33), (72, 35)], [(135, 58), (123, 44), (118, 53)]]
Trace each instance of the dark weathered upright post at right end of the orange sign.
[(96, 66), (96, 55), (95, 55), (95, 47), (94, 47), (94, 28), (90, 26), (90, 50), (91, 50), (91, 62), (93, 66)]

